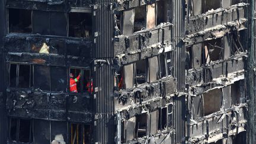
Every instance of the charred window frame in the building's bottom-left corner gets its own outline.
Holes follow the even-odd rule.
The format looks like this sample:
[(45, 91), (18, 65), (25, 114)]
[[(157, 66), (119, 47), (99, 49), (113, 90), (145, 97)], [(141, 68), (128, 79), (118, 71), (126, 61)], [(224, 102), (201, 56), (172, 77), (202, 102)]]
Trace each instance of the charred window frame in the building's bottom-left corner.
[[(16, 119), (16, 130), (15, 130), (15, 133), (16, 133), (16, 140), (12, 140), (12, 137), (11, 137), (11, 126), (12, 126), (12, 120), (13, 119)], [(20, 120), (29, 120), (30, 121), (30, 127), (29, 127), (29, 133), (30, 133), (30, 136), (29, 136), (29, 142), (22, 142), (22, 143), (32, 143), (33, 142), (33, 119), (21, 119), (21, 118), (18, 118), (18, 117), (8, 117), (8, 139), (11, 141), (11, 142), (20, 142)]]

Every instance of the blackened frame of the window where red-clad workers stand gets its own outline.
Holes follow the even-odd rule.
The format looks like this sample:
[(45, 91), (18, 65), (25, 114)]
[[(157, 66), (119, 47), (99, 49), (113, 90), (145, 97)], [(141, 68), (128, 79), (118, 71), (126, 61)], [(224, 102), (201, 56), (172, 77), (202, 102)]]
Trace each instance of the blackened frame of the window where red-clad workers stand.
[[(70, 76), (69, 76), (69, 74), (71, 73), (71, 69), (78, 69), (80, 72), (81, 72), (81, 76), (80, 76), (80, 81), (81, 81), (81, 84), (80, 84), (80, 92), (71, 92), (70, 90), (69, 90), (69, 85), (70, 85)], [(68, 81), (68, 83), (67, 83), (67, 85), (68, 85), (68, 88), (67, 88), (67, 92), (69, 92), (70, 94), (77, 94), (77, 95), (81, 95), (81, 94), (92, 94), (93, 92), (94, 92), (94, 87), (93, 87), (93, 85), (92, 85), (92, 87), (93, 87), (93, 90), (92, 90), (92, 92), (88, 92), (87, 90), (85, 91), (85, 89), (84, 89), (84, 87), (86, 87), (86, 85), (87, 84), (85, 84), (85, 82), (84, 82), (84, 71), (89, 71), (89, 79), (91, 79), (91, 82), (93, 82), (93, 79), (92, 79), (92, 71), (91, 71), (91, 68), (89, 68), (89, 67), (86, 67), (86, 68), (82, 68), (82, 67), (75, 67), (75, 66), (71, 66), (71, 67), (69, 67), (69, 69), (68, 69), (68, 79), (67, 79), (67, 81)], [(74, 77), (75, 78), (75, 77)], [(89, 85), (89, 88), (91, 89), (91, 82), (90, 82), (90, 85)]]

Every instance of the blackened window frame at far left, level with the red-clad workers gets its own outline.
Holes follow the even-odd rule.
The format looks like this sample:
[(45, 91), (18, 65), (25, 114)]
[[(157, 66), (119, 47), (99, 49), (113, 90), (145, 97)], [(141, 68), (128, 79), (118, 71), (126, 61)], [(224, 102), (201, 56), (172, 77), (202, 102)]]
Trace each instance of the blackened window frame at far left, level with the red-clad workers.
[[(15, 87), (11, 86), (11, 65), (16, 65), (16, 78), (15, 78)], [(29, 78), (29, 84), (28, 87), (25, 88), (32, 88), (34, 87), (34, 65), (31, 65), (29, 63), (15, 63), (10, 62), (7, 64), (8, 69), (8, 87), (9, 88), (22, 88), (19, 86), (20, 81), (20, 65), (27, 65), (30, 66), (30, 78)]]

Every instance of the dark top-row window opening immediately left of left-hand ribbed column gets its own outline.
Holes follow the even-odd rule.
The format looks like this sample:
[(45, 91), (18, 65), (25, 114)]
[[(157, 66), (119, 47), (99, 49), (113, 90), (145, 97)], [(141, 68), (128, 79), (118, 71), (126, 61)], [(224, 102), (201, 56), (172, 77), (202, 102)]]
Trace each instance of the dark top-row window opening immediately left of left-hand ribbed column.
[(69, 37), (89, 38), (91, 36), (91, 13), (71, 12), (69, 14)]

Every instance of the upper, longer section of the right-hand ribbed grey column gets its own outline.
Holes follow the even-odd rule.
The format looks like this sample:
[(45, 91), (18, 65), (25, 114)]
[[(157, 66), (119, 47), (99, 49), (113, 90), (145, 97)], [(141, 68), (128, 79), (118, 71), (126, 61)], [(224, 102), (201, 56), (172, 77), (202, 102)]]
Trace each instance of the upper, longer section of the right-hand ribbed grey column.
[(174, 18), (172, 18), (172, 23), (174, 27), (172, 28), (172, 43), (175, 50), (174, 55), (174, 75), (178, 81), (178, 91), (184, 89), (185, 84), (185, 46), (184, 42), (181, 40), (184, 36), (184, 21), (185, 21), (185, 11), (184, 11), (184, 0), (172, 1), (174, 12)]

